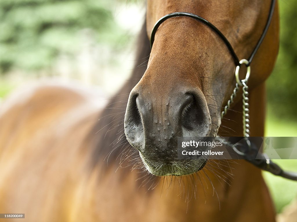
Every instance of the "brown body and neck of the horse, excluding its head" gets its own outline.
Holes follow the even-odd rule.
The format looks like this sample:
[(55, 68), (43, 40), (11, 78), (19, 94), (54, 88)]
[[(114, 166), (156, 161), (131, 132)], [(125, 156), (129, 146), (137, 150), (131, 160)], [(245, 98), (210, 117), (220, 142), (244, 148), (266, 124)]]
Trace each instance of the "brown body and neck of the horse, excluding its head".
[[(276, 10), (255, 58), (258, 73), (272, 69), (257, 68), (257, 61), (267, 50), (277, 51), (270, 45), (277, 19)], [(137, 64), (144, 62), (145, 66), (133, 71), (132, 79), (137, 80), (146, 70), (145, 57), (150, 53), (145, 26), (140, 42)], [(251, 121), (256, 123), (251, 125), (251, 136), (263, 136), (263, 79), (250, 92)], [(4, 102), (0, 111), (0, 213), (25, 213), (25, 221), (30, 222), (273, 221), (274, 207), (261, 172), (247, 162), (214, 161), (192, 176), (165, 179), (141, 170), (138, 152), (123, 134), (128, 94), (136, 83), (126, 83), (120, 96), (113, 97), (103, 110), (103, 101), (94, 105), (91, 97), (77, 90), (53, 85), (21, 91)], [(231, 133), (241, 135), (241, 104), (233, 110), (226, 116), (233, 121), (225, 120), (219, 133), (230, 128)], [(127, 160), (116, 171), (122, 151)], [(107, 166), (104, 159), (109, 153)], [(135, 170), (124, 168), (134, 160)]]

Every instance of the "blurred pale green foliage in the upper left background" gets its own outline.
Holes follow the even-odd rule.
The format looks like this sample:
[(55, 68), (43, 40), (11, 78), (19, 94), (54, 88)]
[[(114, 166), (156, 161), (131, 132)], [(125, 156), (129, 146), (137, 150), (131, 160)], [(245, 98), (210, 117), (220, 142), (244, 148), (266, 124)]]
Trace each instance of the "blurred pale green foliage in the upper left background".
[[(75, 54), (80, 30), (104, 44), (128, 39), (113, 20), (115, 0), (1, 0), (0, 72), (50, 68), (59, 52)], [(121, 40), (121, 41), (120, 41)]]

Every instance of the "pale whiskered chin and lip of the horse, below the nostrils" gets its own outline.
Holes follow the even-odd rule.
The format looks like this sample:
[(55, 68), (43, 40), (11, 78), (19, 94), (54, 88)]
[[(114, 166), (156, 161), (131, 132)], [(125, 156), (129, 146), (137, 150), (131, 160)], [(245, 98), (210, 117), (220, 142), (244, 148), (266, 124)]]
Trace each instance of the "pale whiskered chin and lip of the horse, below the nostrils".
[(203, 169), (207, 160), (175, 160), (172, 163), (148, 160), (139, 152), (146, 169), (155, 176), (183, 176), (196, 173)]

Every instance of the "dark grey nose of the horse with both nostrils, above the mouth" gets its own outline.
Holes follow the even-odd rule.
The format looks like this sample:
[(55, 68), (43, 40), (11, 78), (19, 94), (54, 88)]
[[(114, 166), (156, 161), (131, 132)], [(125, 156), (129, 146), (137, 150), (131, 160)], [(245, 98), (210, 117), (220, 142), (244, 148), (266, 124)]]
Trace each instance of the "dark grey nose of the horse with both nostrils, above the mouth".
[(207, 136), (211, 118), (202, 93), (154, 95), (133, 90), (125, 114), (125, 134), (136, 149), (177, 147), (177, 138)]

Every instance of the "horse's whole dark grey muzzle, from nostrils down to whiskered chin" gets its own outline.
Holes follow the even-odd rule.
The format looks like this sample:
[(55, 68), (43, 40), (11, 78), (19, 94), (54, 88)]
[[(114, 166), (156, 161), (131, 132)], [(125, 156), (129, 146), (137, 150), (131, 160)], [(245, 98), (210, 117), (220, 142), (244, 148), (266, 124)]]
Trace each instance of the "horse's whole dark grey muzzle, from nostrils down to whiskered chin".
[(206, 99), (197, 90), (170, 95), (144, 93), (135, 87), (124, 125), (127, 140), (155, 175), (191, 174), (205, 164), (206, 160), (178, 159), (178, 137), (209, 136), (211, 132)]

